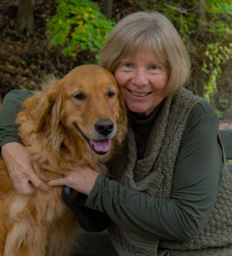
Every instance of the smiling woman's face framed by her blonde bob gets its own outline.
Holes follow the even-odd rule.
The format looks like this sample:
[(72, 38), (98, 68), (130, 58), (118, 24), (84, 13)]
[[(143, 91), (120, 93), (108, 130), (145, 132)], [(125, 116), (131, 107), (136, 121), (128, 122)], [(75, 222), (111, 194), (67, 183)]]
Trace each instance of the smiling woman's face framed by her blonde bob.
[(127, 108), (149, 116), (163, 100), (169, 72), (146, 47), (135, 58), (123, 58), (114, 73)]

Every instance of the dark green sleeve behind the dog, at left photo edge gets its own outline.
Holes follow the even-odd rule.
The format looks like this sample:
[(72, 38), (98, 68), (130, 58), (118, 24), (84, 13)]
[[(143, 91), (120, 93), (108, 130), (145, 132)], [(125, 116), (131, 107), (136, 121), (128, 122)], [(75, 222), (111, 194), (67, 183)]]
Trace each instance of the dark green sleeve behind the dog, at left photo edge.
[(14, 124), (21, 103), (33, 95), (32, 91), (13, 90), (7, 93), (0, 109), (0, 147), (9, 142), (20, 142), (18, 127)]

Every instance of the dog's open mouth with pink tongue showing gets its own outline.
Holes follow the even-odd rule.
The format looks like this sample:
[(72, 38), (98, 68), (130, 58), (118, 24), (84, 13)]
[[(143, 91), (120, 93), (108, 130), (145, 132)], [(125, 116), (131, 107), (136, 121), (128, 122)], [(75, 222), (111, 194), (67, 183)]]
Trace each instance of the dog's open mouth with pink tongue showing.
[(99, 155), (107, 154), (111, 149), (111, 139), (91, 140), (82, 131), (81, 128), (75, 124), (81, 136), (89, 143), (91, 150)]

